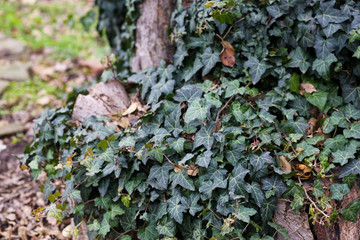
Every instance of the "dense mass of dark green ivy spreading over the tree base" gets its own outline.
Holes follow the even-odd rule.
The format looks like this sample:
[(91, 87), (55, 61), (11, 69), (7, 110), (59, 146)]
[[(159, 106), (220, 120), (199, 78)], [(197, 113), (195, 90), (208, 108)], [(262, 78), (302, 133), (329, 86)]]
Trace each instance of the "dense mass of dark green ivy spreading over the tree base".
[[(105, 117), (76, 127), (71, 105), (35, 121), (39, 131), (23, 163), (34, 176), (44, 168), (50, 181), (70, 174), (63, 201), (76, 185), (81, 198), (74, 201), (86, 204), (94, 234), (116, 236), (113, 228), (140, 239), (272, 239), (275, 230), (286, 236), (271, 223), (281, 196), (295, 211), (310, 204), (314, 220), (318, 209), (332, 211), (319, 218), (327, 222), (338, 212), (357, 219), (358, 201), (333, 209), (321, 179), (344, 179), (330, 187), (341, 201), (360, 173), (360, 62), (351, 57), (359, 40), (348, 35), (358, 27), (360, 3), (226, 2), (179, 5), (174, 63), (124, 75), (151, 107), (129, 129), (115, 132)], [(214, 39), (230, 28), (214, 16), (221, 9), (236, 9), (226, 39), (236, 49), (233, 68), (220, 62)], [(290, 173), (280, 157), (291, 159)], [(314, 184), (312, 194), (298, 178)]]

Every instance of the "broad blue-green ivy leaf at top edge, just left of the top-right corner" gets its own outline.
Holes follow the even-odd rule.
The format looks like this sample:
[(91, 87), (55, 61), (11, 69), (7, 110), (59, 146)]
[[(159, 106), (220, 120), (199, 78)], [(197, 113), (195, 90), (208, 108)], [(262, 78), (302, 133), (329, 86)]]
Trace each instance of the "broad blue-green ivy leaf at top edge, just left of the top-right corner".
[(333, 8), (334, 4), (335, 0), (320, 3), (320, 7), (315, 18), (319, 21), (322, 27), (326, 27), (329, 23), (342, 23), (349, 19), (347, 14)]

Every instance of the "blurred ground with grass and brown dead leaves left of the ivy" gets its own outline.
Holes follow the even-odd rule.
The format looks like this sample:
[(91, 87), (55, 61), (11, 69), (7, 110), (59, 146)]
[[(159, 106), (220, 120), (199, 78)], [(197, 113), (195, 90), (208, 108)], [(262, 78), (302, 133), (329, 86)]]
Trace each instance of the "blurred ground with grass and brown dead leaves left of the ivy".
[[(37, 180), (17, 155), (33, 137), (33, 120), (65, 104), (74, 88), (93, 84), (110, 52), (95, 29), (92, 1), (0, 2), (0, 239), (63, 239), (69, 222), (36, 221), (44, 207)], [(85, 31), (88, 29), (89, 31)]]

